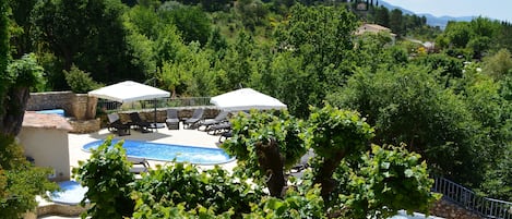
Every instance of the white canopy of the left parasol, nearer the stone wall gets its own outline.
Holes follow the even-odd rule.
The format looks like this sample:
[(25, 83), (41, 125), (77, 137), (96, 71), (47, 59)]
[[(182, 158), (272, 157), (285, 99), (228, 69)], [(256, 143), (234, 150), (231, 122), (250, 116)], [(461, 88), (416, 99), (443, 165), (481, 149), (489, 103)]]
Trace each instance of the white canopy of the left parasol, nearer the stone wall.
[(126, 81), (92, 90), (88, 93), (88, 96), (118, 102), (131, 102), (169, 97), (170, 93), (136, 82)]

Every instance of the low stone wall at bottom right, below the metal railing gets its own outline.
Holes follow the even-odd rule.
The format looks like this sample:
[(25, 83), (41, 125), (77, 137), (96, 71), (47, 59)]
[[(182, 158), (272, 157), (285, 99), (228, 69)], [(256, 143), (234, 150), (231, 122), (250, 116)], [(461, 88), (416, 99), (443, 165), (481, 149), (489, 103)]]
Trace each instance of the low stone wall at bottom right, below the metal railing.
[(455, 204), (441, 199), (430, 209), (430, 215), (443, 217), (446, 219), (481, 219), (480, 216), (473, 214)]

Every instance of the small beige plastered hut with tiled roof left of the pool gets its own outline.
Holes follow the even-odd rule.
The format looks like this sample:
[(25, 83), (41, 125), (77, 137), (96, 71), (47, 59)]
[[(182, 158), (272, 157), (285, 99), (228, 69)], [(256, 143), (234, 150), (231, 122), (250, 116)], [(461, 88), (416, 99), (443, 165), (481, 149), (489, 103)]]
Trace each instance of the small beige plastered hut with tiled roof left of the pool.
[(22, 130), (17, 135), (25, 156), (35, 166), (53, 170), (50, 180), (70, 179), (70, 154), (68, 132), (72, 130), (66, 118), (26, 111)]

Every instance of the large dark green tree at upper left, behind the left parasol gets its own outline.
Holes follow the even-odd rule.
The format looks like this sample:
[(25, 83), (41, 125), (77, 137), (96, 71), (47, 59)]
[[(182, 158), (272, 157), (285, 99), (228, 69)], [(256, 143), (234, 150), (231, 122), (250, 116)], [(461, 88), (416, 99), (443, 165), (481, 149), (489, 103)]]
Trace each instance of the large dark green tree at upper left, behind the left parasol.
[(32, 13), (37, 48), (55, 53), (63, 70), (75, 64), (98, 82), (140, 80), (142, 72), (126, 52), (126, 9), (119, 0), (38, 1)]

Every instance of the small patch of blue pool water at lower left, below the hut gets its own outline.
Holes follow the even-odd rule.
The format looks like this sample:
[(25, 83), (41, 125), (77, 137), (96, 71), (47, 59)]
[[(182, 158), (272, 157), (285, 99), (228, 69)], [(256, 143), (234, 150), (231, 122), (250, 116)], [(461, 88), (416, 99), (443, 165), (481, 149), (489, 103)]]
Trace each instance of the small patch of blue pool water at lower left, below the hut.
[(85, 196), (87, 187), (83, 187), (76, 181), (59, 182), (61, 191), (48, 193), (51, 202), (64, 205), (79, 205)]

